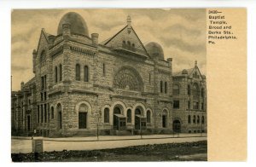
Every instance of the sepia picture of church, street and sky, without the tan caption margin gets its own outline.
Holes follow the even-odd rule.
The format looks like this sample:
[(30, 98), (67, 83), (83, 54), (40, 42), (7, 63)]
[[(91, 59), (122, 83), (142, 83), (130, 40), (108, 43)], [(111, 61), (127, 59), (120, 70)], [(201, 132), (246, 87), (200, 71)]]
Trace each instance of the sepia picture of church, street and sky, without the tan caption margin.
[(11, 158), (207, 161), (207, 9), (13, 9)]

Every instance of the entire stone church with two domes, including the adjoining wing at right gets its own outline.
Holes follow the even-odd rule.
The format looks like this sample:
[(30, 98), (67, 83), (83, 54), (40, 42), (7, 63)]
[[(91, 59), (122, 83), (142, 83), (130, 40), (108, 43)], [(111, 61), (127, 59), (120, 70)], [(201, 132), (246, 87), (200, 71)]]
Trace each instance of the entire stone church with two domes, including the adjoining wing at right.
[(56, 35), (42, 29), (34, 77), (11, 94), (12, 135), (86, 136), (207, 132), (207, 84), (196, 65), (172, 72), (158, 43), (131, 26), (99, 43), (77, 13)]

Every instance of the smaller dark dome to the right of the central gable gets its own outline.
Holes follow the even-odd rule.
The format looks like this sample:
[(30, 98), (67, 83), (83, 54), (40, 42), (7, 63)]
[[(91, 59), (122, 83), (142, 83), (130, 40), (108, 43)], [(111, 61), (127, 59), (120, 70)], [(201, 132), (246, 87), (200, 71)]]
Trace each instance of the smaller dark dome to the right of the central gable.
[(150, 55), (152, 58), (165, 60), (164, 51), (159, 43), (154, 43), (154, 42), (148, 43), (146, 44), (145, 49), (147, 50), (148, 55)]

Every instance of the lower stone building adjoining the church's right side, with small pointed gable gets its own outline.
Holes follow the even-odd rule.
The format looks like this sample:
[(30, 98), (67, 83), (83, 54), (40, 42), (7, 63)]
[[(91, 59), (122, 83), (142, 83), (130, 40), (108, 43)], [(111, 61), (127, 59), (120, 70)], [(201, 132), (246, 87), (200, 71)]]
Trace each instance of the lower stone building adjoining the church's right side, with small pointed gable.
[(173, 78), (173, 130), (187, 133), (207, 132), (206, 76), (195, 66), (175, 72)]

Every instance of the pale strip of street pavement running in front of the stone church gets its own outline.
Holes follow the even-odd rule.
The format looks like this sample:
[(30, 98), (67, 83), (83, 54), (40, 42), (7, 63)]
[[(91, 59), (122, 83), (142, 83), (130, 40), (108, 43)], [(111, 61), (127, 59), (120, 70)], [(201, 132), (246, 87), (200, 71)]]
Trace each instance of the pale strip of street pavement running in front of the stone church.
[[(92, 137), (43, 138), (44, 151), (62, 150), (95, 150), (115, 147), (130, 147), (147, 144), (162, 144), (173, 142), (206, 141), (207, 134), (179, 134), (179, 135), (140, 135), (116, 136), (101, 135), (99, 141)], [(31, 137), (13, 137), (11, 153), (32, 153)]]

